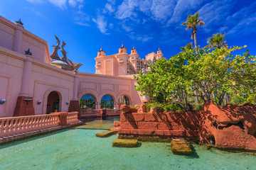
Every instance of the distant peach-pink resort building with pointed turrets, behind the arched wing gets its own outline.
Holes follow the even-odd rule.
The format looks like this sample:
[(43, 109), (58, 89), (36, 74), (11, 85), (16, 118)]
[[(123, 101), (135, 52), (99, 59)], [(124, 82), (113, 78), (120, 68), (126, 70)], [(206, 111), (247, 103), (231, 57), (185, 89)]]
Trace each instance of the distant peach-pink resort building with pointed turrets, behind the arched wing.
[(131, 50), (131, 54), (128, 55), (127, 48), (123, 44), (118, 49), (118, 53), (114, 55), (106, 55), (106, 52), (101, 48), (97, 52), (97, 57), (95, 57), (95, 73), (111, 76), (139, 74), (139, 71), (142, 72), (142, 69), (147, 69), (149, 64), (154, 64), (156, 60), (162, 58), (163, 53), (160, 49), (156, 53), (151, 52), (146, 55), (145, 59), (142, 59), (134, 47)]

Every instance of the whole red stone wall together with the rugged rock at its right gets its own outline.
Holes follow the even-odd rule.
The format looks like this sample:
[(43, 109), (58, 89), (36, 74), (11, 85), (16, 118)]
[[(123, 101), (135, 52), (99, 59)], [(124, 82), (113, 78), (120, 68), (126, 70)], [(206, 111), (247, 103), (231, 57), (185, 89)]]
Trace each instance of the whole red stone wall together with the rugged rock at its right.
[[(135, 109), (137, 108), (137, 109)], [(183, 138), (217, 147), (256, 149), (256, 106), (216, 106), (206, 101), (202, 111), (161, 113), (146, 106), (121, 106), (119, 137)], [(144, 112), (143, 111), (143, 112)]]

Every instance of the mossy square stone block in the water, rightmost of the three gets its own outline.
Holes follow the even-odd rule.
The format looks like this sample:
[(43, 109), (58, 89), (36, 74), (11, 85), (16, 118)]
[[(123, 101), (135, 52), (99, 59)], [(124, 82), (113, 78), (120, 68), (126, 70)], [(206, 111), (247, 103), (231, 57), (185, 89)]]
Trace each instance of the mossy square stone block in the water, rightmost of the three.
[(192, 149), (186, 140), (171, 140), (171, 152), (174, 154), (190, 155)]

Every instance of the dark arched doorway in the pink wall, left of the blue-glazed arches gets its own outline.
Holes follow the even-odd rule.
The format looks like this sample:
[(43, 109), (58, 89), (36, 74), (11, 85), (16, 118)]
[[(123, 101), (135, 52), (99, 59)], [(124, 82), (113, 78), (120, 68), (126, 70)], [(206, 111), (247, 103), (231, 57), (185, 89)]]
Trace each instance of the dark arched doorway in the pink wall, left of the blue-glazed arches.
[(60, 96), (57, 91), (52, 91), (47, 98), (46, 114), (60, 111)]

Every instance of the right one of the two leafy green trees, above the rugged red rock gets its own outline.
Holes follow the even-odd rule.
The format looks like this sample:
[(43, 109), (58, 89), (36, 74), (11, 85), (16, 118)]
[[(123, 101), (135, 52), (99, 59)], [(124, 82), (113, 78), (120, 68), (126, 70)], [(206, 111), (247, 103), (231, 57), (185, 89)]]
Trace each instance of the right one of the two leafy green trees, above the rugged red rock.
[(188, 61), (191, 82), (203, 101), (210, 100), (214, 94), (215, 103), (221, 105), (225, 93), (232, 94), (235, 91), (247, 94), (255, 88), (255, 57), (231, 54), (242, 48), (224, 46), (213, 51), (198, 49), (199, 53)]

